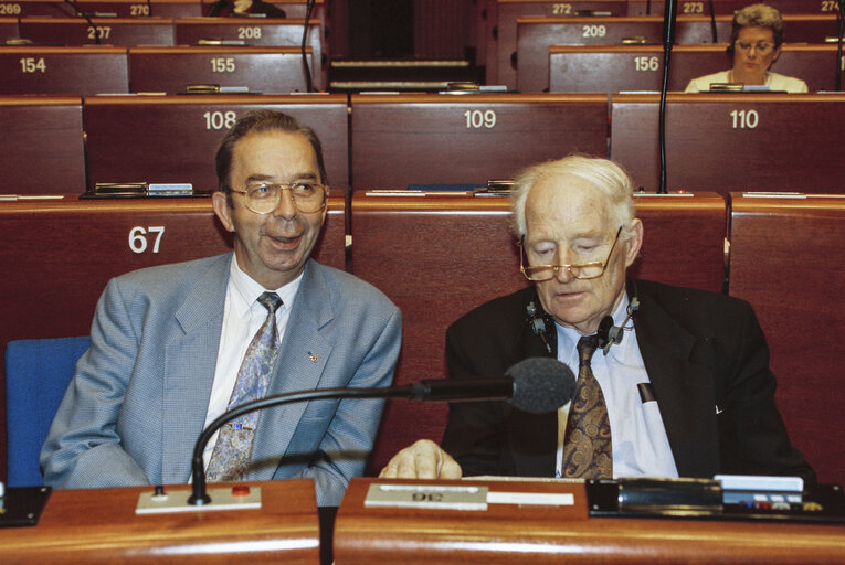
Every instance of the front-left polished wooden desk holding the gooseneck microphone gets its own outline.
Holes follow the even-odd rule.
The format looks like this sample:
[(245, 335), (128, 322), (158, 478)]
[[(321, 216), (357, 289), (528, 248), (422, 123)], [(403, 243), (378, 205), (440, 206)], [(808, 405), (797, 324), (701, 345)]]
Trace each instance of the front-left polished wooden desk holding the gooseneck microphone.
[[(0, 529), (3, 562), (318, 564), (314, 481), (245, 484), (261, 488), (261, 509), (138, 515), (152, 487), (53, 491), (38, 525)], [(190, 488), (166, 488), (177, 491)]]

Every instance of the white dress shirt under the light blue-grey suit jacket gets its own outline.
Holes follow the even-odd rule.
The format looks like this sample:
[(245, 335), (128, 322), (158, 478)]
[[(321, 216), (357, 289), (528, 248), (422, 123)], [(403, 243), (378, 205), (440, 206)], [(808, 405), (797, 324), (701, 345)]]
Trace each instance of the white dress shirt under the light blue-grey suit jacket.
[[(285, 335), (287, 319), (291, 316), (291, 308), (294, 305), (302, 278), (299, 275), (287, 285), (275, 289), (275, 292), (282, 298), (282, 306), (276, 310), (279, 343)], [(237, 260), (234, 256), (232, 257), (229, 286), (223, 306), (223, 327), (220, 332), (218, 363), (214, 369), (214, 382), (211, 385), (211, 397), (209, 398), (209, 409), (205, 413), (203, 428), (226, 412), (229, 407), (229, 399), (232, 396), (235, 381), (237, 381), (237, 372), (241, 369), (243, 356), (246, 354), (246, 349), (264, 320), (267, 319), (267, 309), (257, 301), (258, 297), (267, 290), (241, 270)], [(215, 433), (205, 445), (202, 457), (207, 467), (218, 434)]]

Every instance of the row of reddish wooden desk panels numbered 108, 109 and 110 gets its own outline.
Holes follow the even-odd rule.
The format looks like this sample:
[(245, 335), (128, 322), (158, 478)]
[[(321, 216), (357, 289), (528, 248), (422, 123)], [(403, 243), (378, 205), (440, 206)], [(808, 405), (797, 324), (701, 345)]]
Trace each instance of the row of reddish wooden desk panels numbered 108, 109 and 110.
[[(483, 185), (581, 152), (609, 154), (655, 191), (658, 105), (656, 94), (0, 97), (0, 193), (141, 181), (210, 192), (220, 139), (257, 108), (317, 131), (335, 188)], [(673, 93), (665, 188), (839, 192), (844, 110), (845, 94)]]

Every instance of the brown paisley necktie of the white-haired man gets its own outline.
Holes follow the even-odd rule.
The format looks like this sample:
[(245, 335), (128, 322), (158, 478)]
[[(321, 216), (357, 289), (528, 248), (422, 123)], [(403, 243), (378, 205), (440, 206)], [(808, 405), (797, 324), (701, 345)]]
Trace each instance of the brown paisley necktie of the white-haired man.
[(578, 383), (569, 405), (561, 465), (561, 476), (569, 479), (613, 478), (608, 405), (602, 387), (590, 369), (596, 342), (595, 335), (578, 341)]

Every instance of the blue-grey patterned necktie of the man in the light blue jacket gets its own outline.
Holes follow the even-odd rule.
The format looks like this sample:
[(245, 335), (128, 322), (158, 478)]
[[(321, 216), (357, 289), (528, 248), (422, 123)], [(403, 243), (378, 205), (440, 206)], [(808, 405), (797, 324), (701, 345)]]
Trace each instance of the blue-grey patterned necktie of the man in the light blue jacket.
[[(258, 302), (268, 310), (267, 318), (246, 349), (232, 396), (229, 398), (228, 409), (257, 401), (267, 394), (270, 372), (278, 356), (278, 330), (275, 315), (282, 306), (282, 299), (275, 292), (264, 292), (258, 297)], [(258, 412), (255, 411), (220, 428), (205, 473), (208, 482), (243, 479), (250, 462), (257, 422)]]

